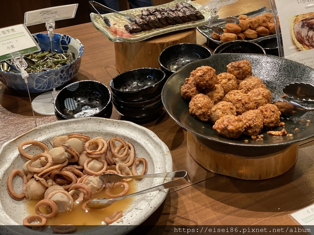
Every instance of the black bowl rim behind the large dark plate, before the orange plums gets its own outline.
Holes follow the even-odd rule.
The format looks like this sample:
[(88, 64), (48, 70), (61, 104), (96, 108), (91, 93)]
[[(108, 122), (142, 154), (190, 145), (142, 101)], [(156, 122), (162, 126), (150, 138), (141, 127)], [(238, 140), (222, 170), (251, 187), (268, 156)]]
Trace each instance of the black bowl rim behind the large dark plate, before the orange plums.
[(266, 54), (263, 47), (260, 45), (245, 41), (245, 40), (236, 40), (225, 42), (220, 44), (215, 50), (213, 54), (219, 53), (253, 53), (253, 54)]

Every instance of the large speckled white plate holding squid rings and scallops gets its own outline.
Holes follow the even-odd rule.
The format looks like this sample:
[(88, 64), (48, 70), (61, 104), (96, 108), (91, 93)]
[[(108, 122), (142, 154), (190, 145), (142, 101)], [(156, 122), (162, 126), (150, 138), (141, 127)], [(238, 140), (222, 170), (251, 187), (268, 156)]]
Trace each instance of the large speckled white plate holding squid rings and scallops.
[[(16, 201), (8, 195), (7, 179), (13, 169), (22, 169), (25, 160), (19, 156), (18, 145), (25, 140), (39, 140), (52, 148), (50, 142), (55, 136), (68, 133), (82, 133), (91, 137), (103, 136), (106, 139), (119, 137), (134, 145), (136, 156), (148, 160), (149, 169), (147, 174), (172, 171), (172, 158), (168, 147), (150, 130), (127, 121), (117, 121), (105, 118), (77, 118), (45, 124), (24, 133), (3, 144), (0, 149), (0, 227), (2, 225), (22, 225), (23, 219), (29, 214), (26, 211), (24, 201)], [(30, 153), (36, 149), (30, 147)], [(35, 153), (35, 152), (34, 152)], [(38, 153), (38, 149), (37, 149)], [(143, 190), (160, 185), (170, 179), (154, 178), (137, 181), (137, 190)], [(15, 177), (14, 189), (21, 191), (22, 180)], [(146, 195), (134, 197), (133, 203), (123, 212), (123, 222), (103, 226), (101, 229), (91, 231), (77, 231), (80, 234), (91, 232), (93, 235), (121, 235), (129, 232), (136, 225), (141, 224), (149, 217), (164, 201), (167, 190), (156, 191)], [(118, 203), (118, 202), (116, 202)], [(135, 226), (134, 226), (135, 225)], [(43, 234), (52, 233), (47, 228), (43, 232), (36, 232), (24, 226), (7, 226), (8, 230), (2, 230), (0, 234)], [(14, 231), (12, 231), (12, 229)], [(26, 231), (25, 231), (26, 230)], [(28, 231), (29, 230), (29, 231)], [(30, 232), (30, 233), (25, 233)]]

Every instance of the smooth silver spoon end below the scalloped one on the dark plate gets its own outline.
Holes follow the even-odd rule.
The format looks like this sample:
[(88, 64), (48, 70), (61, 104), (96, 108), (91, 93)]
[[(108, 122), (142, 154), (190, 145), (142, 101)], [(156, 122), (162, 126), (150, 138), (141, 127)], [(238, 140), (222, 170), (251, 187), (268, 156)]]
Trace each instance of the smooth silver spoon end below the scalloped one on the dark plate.
[(276, 101), (273, 104), (278, 107), (283, 118), (301, 117), (306, 112), (314, 111), (314, 108), (306, 108), (292, 101)]

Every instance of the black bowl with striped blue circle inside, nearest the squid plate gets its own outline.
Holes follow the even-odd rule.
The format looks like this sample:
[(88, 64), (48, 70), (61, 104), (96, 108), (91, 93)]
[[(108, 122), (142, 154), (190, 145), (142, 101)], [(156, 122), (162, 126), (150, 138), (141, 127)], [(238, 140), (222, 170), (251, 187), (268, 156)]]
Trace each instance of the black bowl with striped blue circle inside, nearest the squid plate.
[(112, 111), (111, 92), (98, 81), (73, 82), (59, 91), (54, 107), (60, 119), (108, 116)]

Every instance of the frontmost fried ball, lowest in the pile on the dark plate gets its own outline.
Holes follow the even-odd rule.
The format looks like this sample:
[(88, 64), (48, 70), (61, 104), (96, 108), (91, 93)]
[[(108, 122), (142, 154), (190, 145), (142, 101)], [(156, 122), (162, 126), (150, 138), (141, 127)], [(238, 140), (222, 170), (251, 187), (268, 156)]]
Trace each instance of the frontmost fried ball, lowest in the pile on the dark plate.
[(241, 116), (227, 115), (218, 119), (213, 129), (225, 138), (238, 138), (244, 132), (244, 122)]

